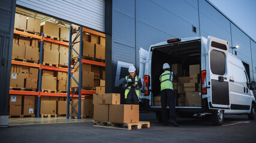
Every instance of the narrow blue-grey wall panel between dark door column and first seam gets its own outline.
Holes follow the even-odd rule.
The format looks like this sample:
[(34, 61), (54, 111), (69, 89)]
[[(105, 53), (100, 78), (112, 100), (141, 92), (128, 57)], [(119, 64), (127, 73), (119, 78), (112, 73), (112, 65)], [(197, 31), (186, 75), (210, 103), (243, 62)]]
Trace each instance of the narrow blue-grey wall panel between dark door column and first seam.
[[(119, 11), (113, 12), (113, 41), (135, 47), (135, 20)], [(114, 47), (115, 48), (115, 47)]]

